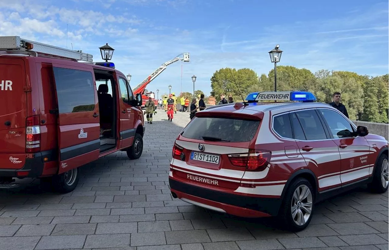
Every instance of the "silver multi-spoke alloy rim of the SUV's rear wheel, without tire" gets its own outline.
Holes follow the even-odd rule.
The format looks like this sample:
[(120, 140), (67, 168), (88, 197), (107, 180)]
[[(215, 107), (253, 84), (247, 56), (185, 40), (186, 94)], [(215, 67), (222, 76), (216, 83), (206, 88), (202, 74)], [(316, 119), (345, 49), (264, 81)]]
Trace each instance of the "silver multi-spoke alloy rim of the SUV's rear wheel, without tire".
[(299, 226), (307, 223), (312, 214), (312, 193), (306, 185), (300, 185), (294, 190), (291, 213), (294, 223)]

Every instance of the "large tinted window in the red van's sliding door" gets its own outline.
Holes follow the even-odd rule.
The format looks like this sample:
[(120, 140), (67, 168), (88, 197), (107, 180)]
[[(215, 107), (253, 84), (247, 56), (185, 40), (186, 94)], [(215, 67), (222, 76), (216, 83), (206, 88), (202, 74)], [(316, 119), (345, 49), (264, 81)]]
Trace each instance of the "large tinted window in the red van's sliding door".
[(95, 85), (91, 72), (53, 67), (60, 113), (93, 111)]

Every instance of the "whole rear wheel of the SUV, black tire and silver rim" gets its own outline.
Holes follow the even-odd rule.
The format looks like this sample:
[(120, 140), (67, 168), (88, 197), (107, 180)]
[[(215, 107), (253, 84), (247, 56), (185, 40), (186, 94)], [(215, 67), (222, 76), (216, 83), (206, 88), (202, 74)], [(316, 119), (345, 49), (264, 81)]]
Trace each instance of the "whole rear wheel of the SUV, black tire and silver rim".
[(311, 183), (297, 178), (287, 189), (278, 215), (284, 229), (298, 232), (305, 229), (312, 219), (315, 206), (315, 192)]

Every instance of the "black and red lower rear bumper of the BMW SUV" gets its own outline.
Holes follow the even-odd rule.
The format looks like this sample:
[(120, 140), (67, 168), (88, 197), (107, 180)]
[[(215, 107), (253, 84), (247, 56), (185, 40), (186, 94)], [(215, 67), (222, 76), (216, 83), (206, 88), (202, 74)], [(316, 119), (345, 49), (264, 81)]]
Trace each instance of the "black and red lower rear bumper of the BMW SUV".
[[(196, 187), (169, 178), (172, 193), (178, 198), (184, 198), (199, 203), (211, 210), (224, 210), (224, 212), (240, 217), (269, 217), (278, 215), (282, 199), (250, 197), (238, 194), (229, 194), (208, 188)], [(192, 202), (191, 202), (192, 203)], [(208, 206), (208, 207), (207, 207)], [(215, 209), (218, 208), (219, 210)]]

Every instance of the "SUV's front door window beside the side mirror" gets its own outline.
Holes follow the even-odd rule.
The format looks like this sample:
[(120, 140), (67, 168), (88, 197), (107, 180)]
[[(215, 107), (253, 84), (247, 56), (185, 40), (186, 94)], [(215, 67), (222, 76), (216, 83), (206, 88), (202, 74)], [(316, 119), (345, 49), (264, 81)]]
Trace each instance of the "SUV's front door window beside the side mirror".
[(341, 114), (330, 109), (320, 109), (320, 113), (324, 116), (334, 138), (352, 137), (354, 129)]

